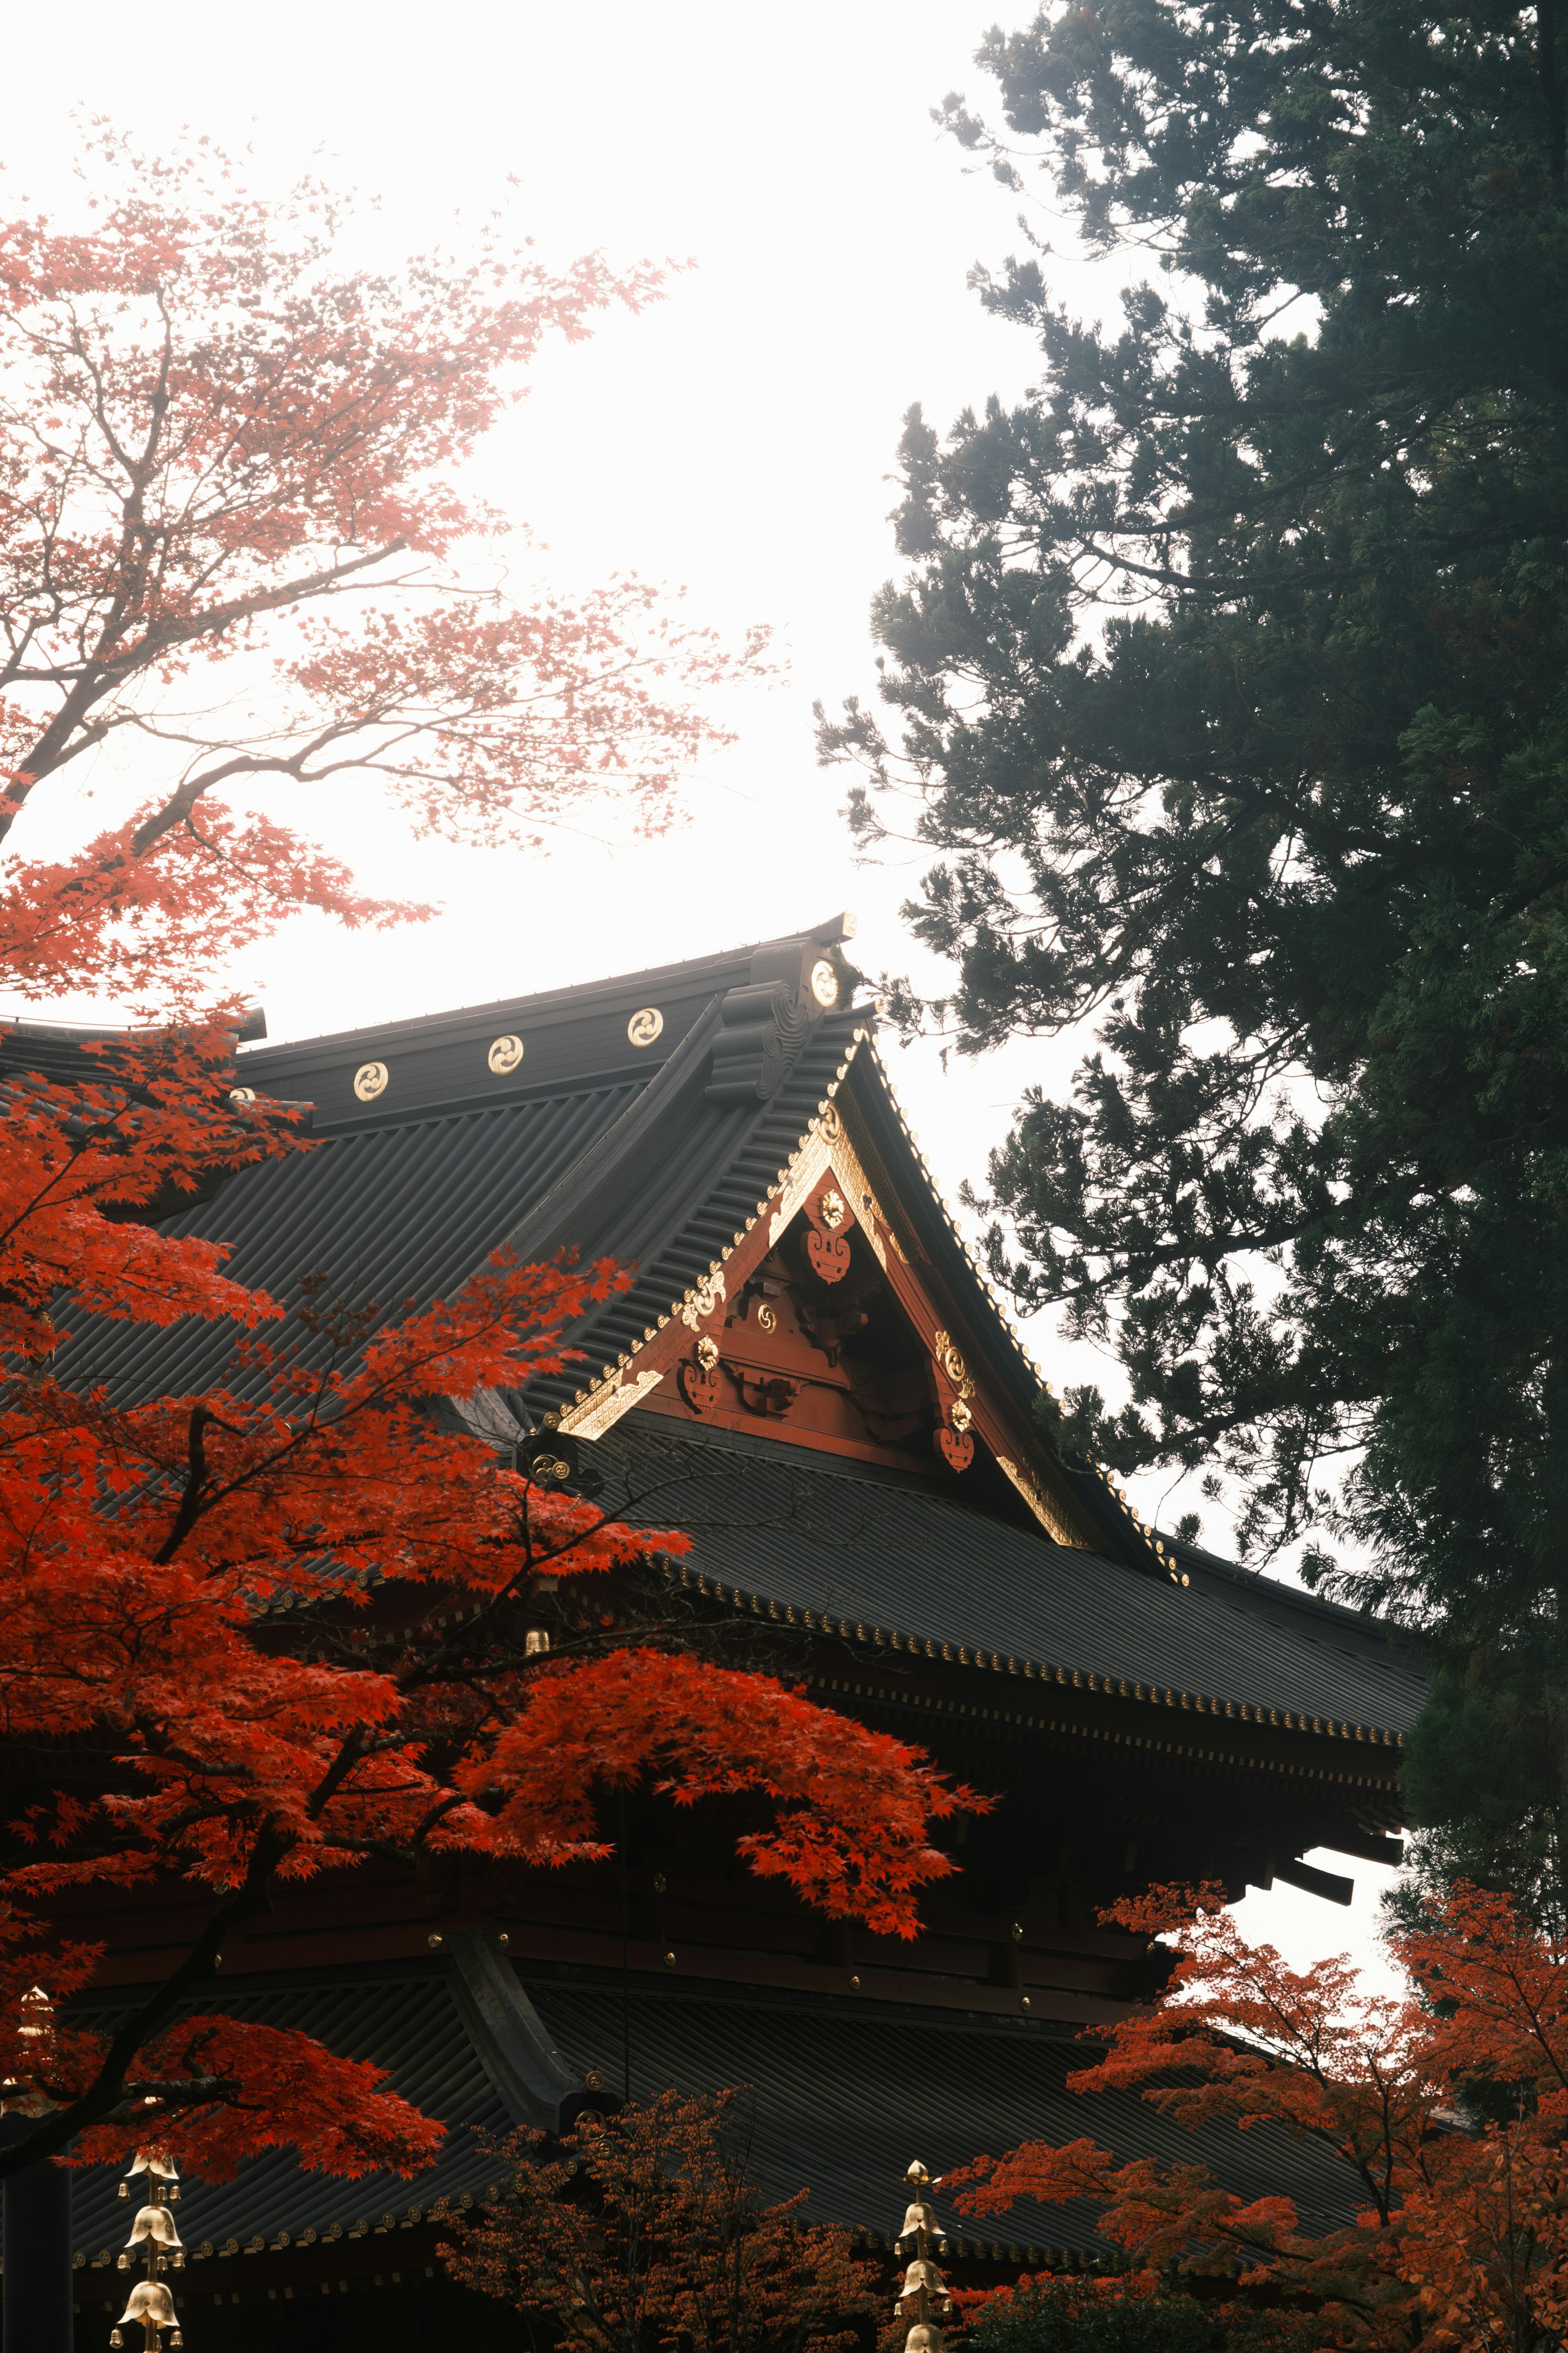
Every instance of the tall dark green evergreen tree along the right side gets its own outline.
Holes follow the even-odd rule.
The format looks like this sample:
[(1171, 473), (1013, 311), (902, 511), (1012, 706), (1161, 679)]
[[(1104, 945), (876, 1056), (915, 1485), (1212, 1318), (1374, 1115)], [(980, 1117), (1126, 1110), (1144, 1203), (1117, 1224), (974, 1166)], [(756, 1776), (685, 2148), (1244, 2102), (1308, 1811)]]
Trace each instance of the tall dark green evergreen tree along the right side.
[(1554, 1809), (1566, 52), (1561, 0), (992, 33), (1004, 122), (947, 127), (1147, 278), (1107, 332), (1032, 233), (978, 273), (1039, 386), (947, 440), (910, 412), (893, 720), (823, 725), (860, 838), (903, 793), (936, 854), (910, 915), (957, 979), (903, 1016), (961, 1052), (1093, 1026), (990, 1169), (1020, 1306), (1128, 1372), (1060, 1442), (1218, 1461), (1253, 1555), (1307, 1537), (1331, 1588), (1441, 1621), (1455, 1706), (1493, 1751), (1526, 1711)]

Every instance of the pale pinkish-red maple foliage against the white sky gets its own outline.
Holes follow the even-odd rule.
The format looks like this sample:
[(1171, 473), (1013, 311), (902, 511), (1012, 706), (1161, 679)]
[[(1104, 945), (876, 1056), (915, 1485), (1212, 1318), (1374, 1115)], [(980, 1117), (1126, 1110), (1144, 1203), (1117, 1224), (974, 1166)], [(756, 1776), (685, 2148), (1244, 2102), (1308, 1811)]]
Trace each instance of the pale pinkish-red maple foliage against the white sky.
[[(141, 158), (99, 125), (85, 167), (85, 224), (0, 219), (0, 988), (200, 1002), (292, 908), (428, 913), (266, 791), (371, 779), (487, 847), (590, 807), (668, 826), (729, 741), (701, 696), (762, 675), (766, 631), (724, 647), (630, 574), (529, 588), (461, 485), (541, 346), (668, 271), (550, 271), (496, 221), (364, 271), (343, 198), (266, 205), (207, 139)], [(82, 786), (120, 807), (71, 847)]]

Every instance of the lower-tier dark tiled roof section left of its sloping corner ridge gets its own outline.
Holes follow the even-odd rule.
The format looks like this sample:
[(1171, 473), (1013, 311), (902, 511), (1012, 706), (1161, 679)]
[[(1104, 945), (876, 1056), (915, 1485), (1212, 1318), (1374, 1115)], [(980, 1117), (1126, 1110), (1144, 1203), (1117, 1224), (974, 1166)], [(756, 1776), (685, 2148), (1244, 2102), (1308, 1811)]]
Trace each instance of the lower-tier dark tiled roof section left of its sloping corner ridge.
[[(254, 2233), (273, 2240), (277, 2231), (299, 2238), (334, 2221), (343, 2231), (357, 2221), (376, 2226), (388, 2212), (404, 2219), (409, 2205), (428, 2207), (463, 2191), (477, 2198), (494, 2177), (475, 2144), (475, 2127), (508, 2132), (512, 2120), (444, 1972), (360, 1969), (353, 1977), (322, 1972), (284, 1986), (235, 1984), (223, 1986), (223, 2009), (261, 2026), (296, 2026), (343, 2059), (388, 2068), (395, 2092), (451, 2129), (437, 2162), (411, 2181), (400, 2174), (362, 2174), (357, 2181), (313, 2174), (287, 2148), (254, 2158), (228, 2184), (188, 2179), (176, 2214), (186, 2247), (221, 2247), (230, 2235), (244, 2247)], [(110, 2009), (94, 2005), (94, 2026), (110, 2019)], [(94, 2165), (73, 2177), (73, 2238), (89, 2264), (106, 2247), (118, 2252), (125, 2245), (132, 2214), (134, 2207), (120, 2202), (120, 2169)]]

